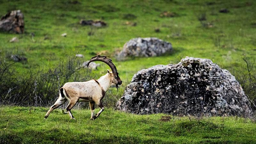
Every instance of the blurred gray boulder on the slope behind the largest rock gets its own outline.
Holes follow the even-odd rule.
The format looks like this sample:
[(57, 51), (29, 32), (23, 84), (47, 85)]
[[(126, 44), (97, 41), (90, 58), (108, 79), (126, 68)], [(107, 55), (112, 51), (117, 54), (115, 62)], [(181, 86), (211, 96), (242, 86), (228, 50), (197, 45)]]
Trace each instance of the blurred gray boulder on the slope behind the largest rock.
[(123, 50), (117, 54), (117, 60), (126, 57), (153, 57), (172, 51), (172, 44), (156, 37), (133, 38), (124, 44)]

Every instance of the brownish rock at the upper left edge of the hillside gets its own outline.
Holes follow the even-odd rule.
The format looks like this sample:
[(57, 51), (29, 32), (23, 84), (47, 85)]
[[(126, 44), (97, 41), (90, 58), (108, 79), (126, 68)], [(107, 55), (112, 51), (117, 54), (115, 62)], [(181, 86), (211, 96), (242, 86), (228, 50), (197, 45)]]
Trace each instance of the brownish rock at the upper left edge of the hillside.
[(0, 20), (0, 31), (24, 33), (24, 16), (20, 10), (12, 11), (3, 16)]

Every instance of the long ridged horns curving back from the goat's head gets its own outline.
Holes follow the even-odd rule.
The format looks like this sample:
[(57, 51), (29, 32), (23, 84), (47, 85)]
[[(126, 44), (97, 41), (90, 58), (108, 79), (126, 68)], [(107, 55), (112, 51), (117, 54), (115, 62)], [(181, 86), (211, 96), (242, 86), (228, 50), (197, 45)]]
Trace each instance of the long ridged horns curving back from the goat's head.
[(117, 70), (116, 70), (116, 66), (113, 64), (111, 59), (107, 58), (107, 56), (97, 55), (95, 57), (92, 57), (91, 60), (87, 63), (87, 68), (89, 68), (89, 64), (92, 61), (102, 61), (102, 62), (105, 62), (111, 68), (113, 73), (118, 74)]

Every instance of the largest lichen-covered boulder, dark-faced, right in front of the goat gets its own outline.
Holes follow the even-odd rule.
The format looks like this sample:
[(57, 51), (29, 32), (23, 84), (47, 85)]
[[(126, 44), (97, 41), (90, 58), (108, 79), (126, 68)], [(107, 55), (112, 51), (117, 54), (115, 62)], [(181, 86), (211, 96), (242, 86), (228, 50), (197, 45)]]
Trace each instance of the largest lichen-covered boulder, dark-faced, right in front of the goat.
[(135, 114), (252, 115), (249, 100), (228, 70), (192, 57), (138, 71), (116, 108)]

